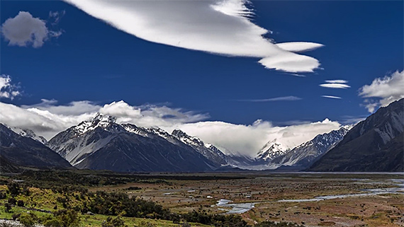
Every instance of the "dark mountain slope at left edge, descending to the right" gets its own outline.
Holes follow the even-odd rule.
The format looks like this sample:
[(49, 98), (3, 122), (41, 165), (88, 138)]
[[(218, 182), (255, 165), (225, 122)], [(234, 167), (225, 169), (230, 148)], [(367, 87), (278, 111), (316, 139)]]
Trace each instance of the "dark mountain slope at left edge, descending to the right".
[(0, 138), (0, 154), (6, 160), (4, 163), (36, 168), (72, 167), (55, 151), (39, 141), (16, 134), (4, 124), (0, 124)]

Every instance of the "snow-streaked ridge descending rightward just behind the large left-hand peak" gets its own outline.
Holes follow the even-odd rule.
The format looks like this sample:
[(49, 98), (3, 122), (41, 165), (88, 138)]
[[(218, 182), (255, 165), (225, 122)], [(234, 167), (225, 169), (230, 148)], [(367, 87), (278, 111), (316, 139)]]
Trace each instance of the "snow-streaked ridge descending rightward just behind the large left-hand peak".
[(184, 144), (191, 146), (193, 149), (201, 153), (209, 160), (218, 163), (220, 165), (228, 164), (225, 154), (218, 148), (213, 146), (213, 144), (205, 144), (198, 137), (189, 136), (188, 134), (182, 132), (179, 129), (175, 129), (172, 132), (172, 136), (174, 136), (176, 139), (179, 139), (179, 141), (183, 142)]

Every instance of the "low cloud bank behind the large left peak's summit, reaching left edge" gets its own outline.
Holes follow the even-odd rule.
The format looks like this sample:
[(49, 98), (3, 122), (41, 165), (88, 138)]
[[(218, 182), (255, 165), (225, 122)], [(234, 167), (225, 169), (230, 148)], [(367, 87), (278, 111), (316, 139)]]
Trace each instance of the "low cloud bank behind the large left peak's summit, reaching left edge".
[(183, 111), (180, 108), (164, 105), (131, 106), (123, 101), (97, 105), (84, 100), (58, 105), (57, 100), (43, 99), (41, 103), (21, 107), (0, 103), (0, 110), (1, 123), (32, 129), (46, 139), (84, 120), (90, 120), (97, 112), (117, 117), (118, 123), (133, 123), (140, 127), (167, 127), (208, 118), (207, 114)]

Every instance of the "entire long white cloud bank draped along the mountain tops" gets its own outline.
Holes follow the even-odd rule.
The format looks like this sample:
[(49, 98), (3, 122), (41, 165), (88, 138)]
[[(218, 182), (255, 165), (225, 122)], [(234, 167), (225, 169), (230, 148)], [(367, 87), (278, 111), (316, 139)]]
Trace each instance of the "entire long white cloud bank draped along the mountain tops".
[(57, 105), (55, 100), (42, 100), (37, 105), (18, 107), (0, 103), (0, 122), (9, 127), (33, 129), (38, 135), (50, 139), (68, 127), (90, 120), (101, 112), (117, 117), (118, 123), (132, 123), (140, 127), (160, 127), (167, 132), (181, 129), (198, 136), (225, 152), (255, 156), (267, 141), (276, 139), (288, 148), (313, 139), (317, 134), (338, 129), (340, 124), (330, 120), (322, 122), (298, 122), (294, 125), (275, 127), (271, 122), (257, 120), (252, 124), (206, 121), (207, 114), (184, 111), (164, 105), (132, 106), (123, 101), (96, 105), (89, 101), (77, 101)]

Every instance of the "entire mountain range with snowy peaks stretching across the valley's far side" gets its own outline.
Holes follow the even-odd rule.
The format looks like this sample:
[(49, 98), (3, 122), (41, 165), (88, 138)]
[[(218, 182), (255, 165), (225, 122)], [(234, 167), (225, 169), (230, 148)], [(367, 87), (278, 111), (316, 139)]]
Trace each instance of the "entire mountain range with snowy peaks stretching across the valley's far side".
[(97, 114), (47, 141), (30, 129), (0, 124), (0, 170), (21, 167), (89, 168), (117, 172), (249, 170), (403, 171), (404, 99), (381, 107), (357, 125), (346, 125), (288, 149), (266, 143), (257, 156), (226, 155), (179, 129), (118, 124)]

